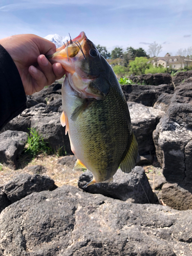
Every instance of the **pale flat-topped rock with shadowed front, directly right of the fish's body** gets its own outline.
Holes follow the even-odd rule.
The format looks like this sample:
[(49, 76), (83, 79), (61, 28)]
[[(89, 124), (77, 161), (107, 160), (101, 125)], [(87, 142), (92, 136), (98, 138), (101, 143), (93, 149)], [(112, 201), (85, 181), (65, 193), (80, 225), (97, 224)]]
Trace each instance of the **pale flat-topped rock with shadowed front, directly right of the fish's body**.
[(139, 145), (139, 155), (154, 154), (153, 131), (165, 113), (135, 102), (128, 102), (127, 104), (130, 110), (133, 132)]

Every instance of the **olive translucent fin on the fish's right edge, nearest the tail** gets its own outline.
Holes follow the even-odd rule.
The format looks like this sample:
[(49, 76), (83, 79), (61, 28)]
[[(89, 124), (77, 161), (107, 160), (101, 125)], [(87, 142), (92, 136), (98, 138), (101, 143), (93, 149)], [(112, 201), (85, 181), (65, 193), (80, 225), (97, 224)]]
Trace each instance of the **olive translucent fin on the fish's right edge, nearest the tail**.
[(135, 135), (132, 133), (132, 142), (129, 150), (127, 151), (124, 159), (120, 163), (120, 168), (124, 173), (130, 173), (135, 167), (138, 156), (138, 144)]

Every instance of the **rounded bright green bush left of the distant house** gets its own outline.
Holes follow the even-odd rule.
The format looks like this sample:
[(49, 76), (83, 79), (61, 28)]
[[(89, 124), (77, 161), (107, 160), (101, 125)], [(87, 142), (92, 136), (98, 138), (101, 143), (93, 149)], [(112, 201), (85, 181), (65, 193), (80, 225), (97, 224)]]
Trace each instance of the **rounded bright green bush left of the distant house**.
[(135, 60), (130, 62), (130, 73), (133, 75), (142, 75), (145, 73), (145, 69), (149, 69), (151, 66), (150, 61), (145, 57), (136, 57)]

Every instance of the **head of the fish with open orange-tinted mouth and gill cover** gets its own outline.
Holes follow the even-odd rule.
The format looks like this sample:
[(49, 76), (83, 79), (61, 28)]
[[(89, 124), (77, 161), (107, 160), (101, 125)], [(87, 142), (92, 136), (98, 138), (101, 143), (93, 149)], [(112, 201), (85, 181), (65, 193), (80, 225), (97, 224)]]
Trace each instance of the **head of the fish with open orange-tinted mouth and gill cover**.
[(109, 93), (111, 67), (84, 32), (50, 57), (51, 62), (61, 63), (70, 86), (81, 98), (101, 100)]

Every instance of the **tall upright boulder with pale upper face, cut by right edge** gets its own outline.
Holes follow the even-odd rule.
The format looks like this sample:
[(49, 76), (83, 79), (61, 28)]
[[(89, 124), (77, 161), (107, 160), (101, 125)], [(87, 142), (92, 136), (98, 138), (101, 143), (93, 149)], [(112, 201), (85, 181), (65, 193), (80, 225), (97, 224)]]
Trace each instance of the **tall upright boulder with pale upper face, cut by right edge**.
[(157, 159), (168, 182), (191, 184), (192, 106), (170, 104), (153, 133)]

